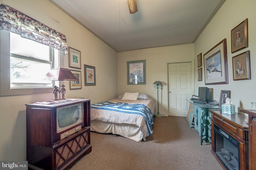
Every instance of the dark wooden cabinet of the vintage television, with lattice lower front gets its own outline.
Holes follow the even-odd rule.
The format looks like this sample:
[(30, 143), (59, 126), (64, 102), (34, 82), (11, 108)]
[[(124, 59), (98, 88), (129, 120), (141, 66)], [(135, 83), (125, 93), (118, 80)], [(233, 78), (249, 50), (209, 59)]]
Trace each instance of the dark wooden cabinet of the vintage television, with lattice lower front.
[[(75, 105), (82, 106), (83, 121), (58, 133), (58, 108)], [(73, 111), (69, 113), (74, 114)], [(26, 104), (26, 125), (29, 169), (64, 170), (81, 156), (92, 151), (88, 99), (74, 99), (56, 104)]]

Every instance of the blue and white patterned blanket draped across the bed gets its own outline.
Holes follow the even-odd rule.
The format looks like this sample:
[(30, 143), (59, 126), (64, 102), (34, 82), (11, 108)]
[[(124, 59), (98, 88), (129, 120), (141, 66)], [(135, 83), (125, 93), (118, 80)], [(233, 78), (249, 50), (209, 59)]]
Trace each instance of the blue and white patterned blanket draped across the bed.
[(147, 125), (149, 135), (153, 134), (153, 131), (152, 131), (153, 115), (150, 108), (144, 104), (127, 104), (122, 102), (104, 101), (104, 102), (92, 104), (91, 108), (142, 115), (146, 120), (146, 125)]

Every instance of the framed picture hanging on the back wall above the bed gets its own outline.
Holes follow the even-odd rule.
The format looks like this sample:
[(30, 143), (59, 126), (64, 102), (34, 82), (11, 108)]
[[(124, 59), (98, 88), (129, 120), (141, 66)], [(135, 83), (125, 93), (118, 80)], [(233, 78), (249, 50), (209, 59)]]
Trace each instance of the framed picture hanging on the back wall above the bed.
[(127, 61), (127, 84), (146, 84), (146, 60)]

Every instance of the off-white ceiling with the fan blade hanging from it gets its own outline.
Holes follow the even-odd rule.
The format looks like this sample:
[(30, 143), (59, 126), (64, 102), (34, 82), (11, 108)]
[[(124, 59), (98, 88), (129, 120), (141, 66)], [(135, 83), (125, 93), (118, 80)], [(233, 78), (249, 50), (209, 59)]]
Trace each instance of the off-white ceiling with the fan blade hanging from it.
[[(50, 0), (116, 51), (194, 43), (225, 0)], [(68, 39), (67, 39), (68, 40)]]

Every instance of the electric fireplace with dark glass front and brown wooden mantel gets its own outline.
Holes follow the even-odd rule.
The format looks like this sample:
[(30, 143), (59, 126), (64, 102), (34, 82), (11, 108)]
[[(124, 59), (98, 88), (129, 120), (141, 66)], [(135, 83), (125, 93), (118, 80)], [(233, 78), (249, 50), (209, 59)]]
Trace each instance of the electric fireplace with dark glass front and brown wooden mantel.
[(212, 112), (212, 150), (225, 170), (249, 169), (248, 123), (244, 115)]

